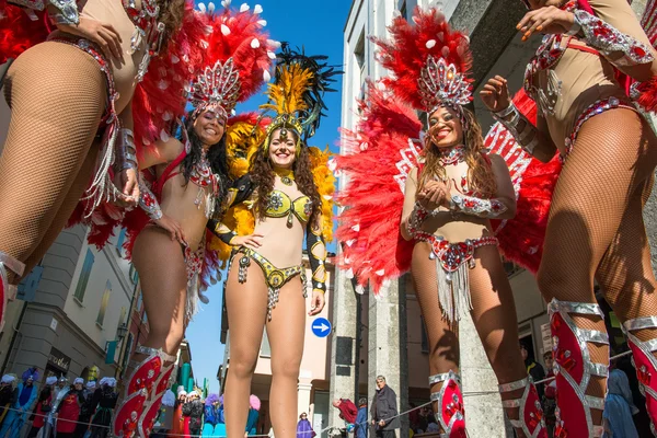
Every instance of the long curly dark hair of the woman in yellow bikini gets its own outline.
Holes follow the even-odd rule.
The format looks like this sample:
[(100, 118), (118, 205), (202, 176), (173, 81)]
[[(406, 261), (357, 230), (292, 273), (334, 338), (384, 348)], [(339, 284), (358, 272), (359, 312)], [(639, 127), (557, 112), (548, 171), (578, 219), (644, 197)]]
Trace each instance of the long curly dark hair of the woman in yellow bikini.
[[(296, 132), (291, 131), (295, 138), (298, 140)], [(274, 131), (269, 135), (274, 135)], [(312, 200), (312, 214), (310, 215), (309, 223), (314, 223), (316, 218), (322, 212), (322, 198), (312, 178), (312, 164), (310, 162), (310, 154), (308, 148), (302, 141), (297, 141), (298, 147), (301, 148), (297, 154), (297, 159), (292, 163), (292, 172), (295, 174), (295, 181), (299, 192), (310, 197)], [(274, 166), (272, 160), (269, 160), (269, 149), (258, 148), (257, 152), (251, 158), (251, 165), (249, 168), (249, 174), (255, 186), (257, 187), (257, 201), (255, 203), (255, 216), (258, 219), (265, 218), (265, 211), (267, 210), (268, 194), (274, 189), (274, 180), (276, 173), (274, 173)]]

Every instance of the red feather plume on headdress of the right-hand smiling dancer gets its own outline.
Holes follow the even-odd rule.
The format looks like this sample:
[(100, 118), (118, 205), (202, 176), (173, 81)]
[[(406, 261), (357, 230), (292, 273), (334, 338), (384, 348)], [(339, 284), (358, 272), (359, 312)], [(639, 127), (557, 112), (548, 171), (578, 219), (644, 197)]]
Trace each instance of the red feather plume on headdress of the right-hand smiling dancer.
[(377, 60), (394, 74), (383, 80), (385, 85), (413, 107), (427, 110), (418, 85), (427, 58), (445, 58), (448, 65), (453, 64), (459, 72), (466, 73), (472, 66), (472, 54), (465, 35), (452, 31), (440, 10), (416, 7), (413, 22), (415, 25), (396, 16), (388, 27), (391, 39), (372, 38), (372, 42), (379, 46)]

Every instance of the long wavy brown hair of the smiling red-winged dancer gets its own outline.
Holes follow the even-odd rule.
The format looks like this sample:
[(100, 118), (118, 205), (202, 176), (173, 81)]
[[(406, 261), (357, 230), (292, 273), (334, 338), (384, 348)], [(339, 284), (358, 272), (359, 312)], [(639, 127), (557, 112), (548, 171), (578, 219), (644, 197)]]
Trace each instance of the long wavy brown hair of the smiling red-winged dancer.
[[(477, 196), (491, 198), (497, 192), (497, 184), (495, 182), (495, 174), (493, 173), (491, 160), (483, 153), (485, 147), (482, 127), (470, 110), (463, 108), (463, 116), (469, 126), (468, 130), (464, 131), (465, 163), (468, 163), (469, 168), (468, 185), (471, 191), (477, 194)], [(430, 129), (431, 128), (429, 128), (429, 132)], [(425, 184), (434, 176), (438, 176), (442, 181), (447, 178), (447, 172), (445, 171), (445, 168), (440, 165), (438, 148), (431, 141), (433, 136), (429, 132), (425, 136), (423, 151), (425, 162), (417, 178), (417, 192), (420, 192)]]

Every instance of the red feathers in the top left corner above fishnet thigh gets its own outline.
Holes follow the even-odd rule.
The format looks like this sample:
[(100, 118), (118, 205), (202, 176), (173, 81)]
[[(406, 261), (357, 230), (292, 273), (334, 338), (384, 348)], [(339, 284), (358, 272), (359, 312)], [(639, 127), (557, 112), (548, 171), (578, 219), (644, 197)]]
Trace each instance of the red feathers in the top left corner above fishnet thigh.
[(34, 12), (32, 20), (22, 8), (0, 0), (0, 64), (15, 59), (48, 36), (48, 18), (45, 12)]

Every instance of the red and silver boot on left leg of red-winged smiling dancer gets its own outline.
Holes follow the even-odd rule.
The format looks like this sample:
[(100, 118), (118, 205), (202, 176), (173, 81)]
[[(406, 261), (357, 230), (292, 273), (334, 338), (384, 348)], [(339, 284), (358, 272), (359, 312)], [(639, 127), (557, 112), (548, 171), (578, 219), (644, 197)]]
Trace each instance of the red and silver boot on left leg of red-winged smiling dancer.
[(465, 411), (461, 394), (461, 378), (453, 371), (429, 377), (429, 385), (442, 383), (440, 391), (431, 393), (431, 402), (438, 403), (436, 420), (446, 438), (466, 438)]

